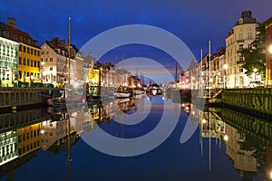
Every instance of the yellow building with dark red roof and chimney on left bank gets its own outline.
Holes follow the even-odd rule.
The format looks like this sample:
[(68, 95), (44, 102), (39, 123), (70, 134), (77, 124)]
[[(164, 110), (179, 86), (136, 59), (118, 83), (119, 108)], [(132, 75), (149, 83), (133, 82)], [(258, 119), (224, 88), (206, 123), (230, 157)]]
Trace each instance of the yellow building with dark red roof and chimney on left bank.
[(18, 79), (20, 81), (39, 81), (41, 78), (41, 48), (28, 33), (16, 29), (15, 18), (8, 18), (5, 26), (8, 33), (16, 38), (19, 45)]

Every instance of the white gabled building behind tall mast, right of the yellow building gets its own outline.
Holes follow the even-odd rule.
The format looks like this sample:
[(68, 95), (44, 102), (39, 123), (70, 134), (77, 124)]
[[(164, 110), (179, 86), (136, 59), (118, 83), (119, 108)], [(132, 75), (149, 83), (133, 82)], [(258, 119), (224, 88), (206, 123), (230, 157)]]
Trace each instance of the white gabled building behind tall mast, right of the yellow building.
[(59, 38), (53, 38), (50, 42), (46, 41), (43, 44), (41, 58), (44, 83), (53, 83), (58, 86), (58, 84), (67, 83), (69, 79), (71, 83), (83, 82), (83, 54), (71, 45), (69, 58), (68, 47), (68, 42)]

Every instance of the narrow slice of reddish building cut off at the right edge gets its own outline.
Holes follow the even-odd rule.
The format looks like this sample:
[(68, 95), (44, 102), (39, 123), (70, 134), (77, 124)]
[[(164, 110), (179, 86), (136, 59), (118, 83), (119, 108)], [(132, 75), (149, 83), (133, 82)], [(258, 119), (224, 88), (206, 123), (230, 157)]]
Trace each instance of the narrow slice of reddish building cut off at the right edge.
[(268, 18), (263, 24), (266, 27), (266, 86), (272, 87), (272, 17)]

